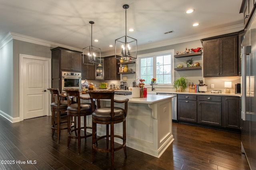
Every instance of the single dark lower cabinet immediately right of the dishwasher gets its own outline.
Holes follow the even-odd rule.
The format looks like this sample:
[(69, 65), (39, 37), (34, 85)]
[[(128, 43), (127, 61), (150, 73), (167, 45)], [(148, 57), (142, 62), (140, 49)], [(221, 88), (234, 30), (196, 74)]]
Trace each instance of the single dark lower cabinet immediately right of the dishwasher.
[(178, 120), (196, 122), (196, 95), (178, 94)]

